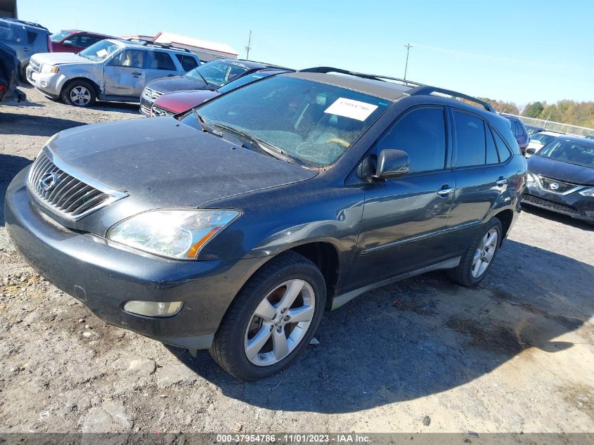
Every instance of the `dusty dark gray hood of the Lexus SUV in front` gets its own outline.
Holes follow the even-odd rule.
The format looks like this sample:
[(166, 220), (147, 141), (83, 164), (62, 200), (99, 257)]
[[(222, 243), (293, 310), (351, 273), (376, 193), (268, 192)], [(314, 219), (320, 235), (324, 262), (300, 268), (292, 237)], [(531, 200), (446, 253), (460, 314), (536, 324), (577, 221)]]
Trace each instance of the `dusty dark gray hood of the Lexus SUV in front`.
[(316, 175), (173, 117), (75, 127), (61, 131), (48, 147), (75, 171), (129, 193), (120, 202), (134, 209), (200, 207)]

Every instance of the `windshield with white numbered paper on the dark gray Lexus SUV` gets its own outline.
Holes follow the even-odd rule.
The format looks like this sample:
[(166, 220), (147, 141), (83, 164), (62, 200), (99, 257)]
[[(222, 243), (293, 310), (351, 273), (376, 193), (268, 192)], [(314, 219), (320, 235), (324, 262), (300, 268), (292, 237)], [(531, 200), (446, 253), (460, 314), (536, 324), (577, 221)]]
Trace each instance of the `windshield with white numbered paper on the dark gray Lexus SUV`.
[[(388, 107), (368, 94), (292, 77), (271, 77), (198, 108), (223, 124), (276, 147), (305, 167), (328, 167)], [(189, 113), (182, 121), (198, 127)]]

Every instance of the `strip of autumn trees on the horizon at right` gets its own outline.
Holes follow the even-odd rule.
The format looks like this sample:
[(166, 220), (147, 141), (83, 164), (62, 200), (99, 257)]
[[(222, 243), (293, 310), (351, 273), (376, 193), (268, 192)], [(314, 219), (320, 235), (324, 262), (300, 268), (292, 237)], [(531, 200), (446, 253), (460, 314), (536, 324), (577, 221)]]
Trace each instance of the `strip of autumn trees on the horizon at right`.
[(562, 124), (578, 125), (579, 127), (594, 128), (594, 102), (558, 101), (547, 103), (536, 101), (528, 103), (521, 108), (517, 103), (494, 101), (490, 98), (481, 98), (489, 102), (497, 112), (507, 112), (511, 115), (535, 117), (536, 119), (561, 122)]

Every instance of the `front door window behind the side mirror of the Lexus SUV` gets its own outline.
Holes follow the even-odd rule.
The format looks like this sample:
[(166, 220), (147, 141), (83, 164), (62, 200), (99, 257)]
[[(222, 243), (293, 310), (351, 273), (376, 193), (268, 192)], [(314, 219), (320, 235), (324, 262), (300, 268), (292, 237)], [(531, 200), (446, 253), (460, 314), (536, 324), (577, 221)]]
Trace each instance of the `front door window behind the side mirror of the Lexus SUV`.
[(441, 108), (419, 108), (402, 117), (377, 142), (377, 153), (385, 148), (404, 150), (411, 159), (411, 172), (444, 168), (446, 126)]

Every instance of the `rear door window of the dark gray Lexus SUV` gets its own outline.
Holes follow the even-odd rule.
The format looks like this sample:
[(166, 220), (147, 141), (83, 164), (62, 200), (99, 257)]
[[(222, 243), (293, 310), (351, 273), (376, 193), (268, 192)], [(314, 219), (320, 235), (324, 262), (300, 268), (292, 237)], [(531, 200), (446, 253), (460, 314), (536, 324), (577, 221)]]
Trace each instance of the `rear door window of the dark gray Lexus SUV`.
[(463, 112), (453, 112), (456, 124), (456, 167), (484, 165), (484, 123), (478, 117)]

